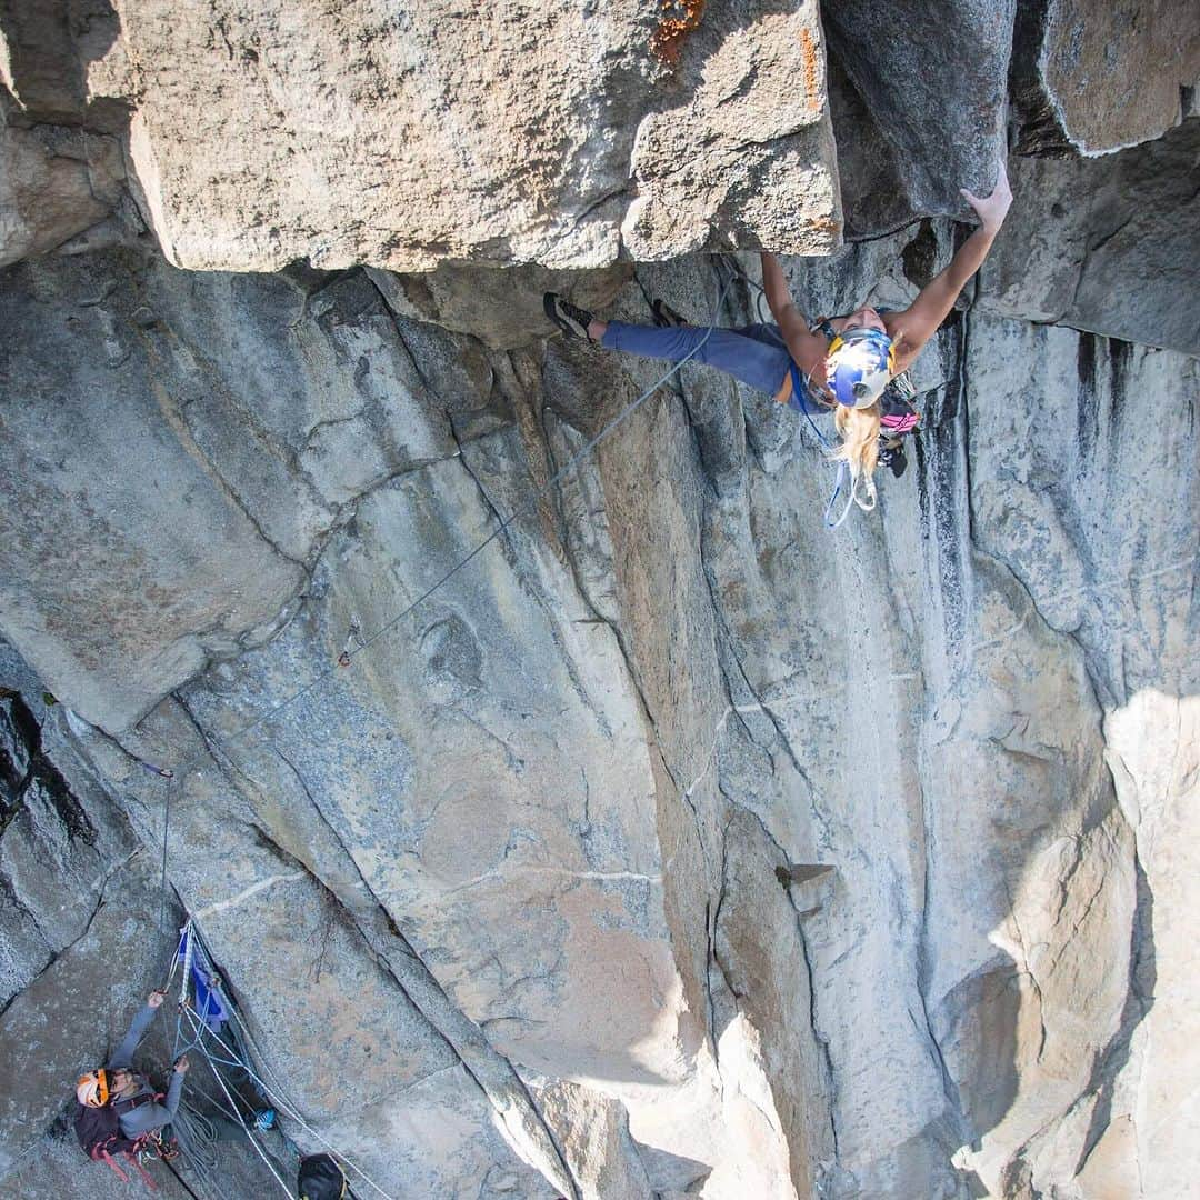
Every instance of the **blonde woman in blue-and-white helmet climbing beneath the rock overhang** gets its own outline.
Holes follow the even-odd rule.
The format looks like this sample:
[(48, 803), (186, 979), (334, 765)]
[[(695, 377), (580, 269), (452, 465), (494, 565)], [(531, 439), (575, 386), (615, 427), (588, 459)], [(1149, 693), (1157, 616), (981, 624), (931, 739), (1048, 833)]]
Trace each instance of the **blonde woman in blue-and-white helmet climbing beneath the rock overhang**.
[(689, 326), (655, 300), (654, 326), (628, 325), (598, 320), (553, 292), (544, 298), (546, 316), (571, 337), (672, 362), (690, 356), (802, 412), (816, 406), (832, 408), (839, 436), (833, 457), (848, 469), (850, 494), (859, 508), (870, 510), (875, 506), (872, 476), (881, 440), (887, 445), (916, 425), (910, 406), (892, 402), (888, 383), (913, 364), (986, 258), (1013, 202), (1003, 160), (990, 196), (973, 196), (966, 188), (961, 193), (978, 215), (979, 228), (901, 312), (881, 313), (863, 305), (845, 317), (810, 326), (792, 302), (778, 259), (764, 252), (762, 284), (775, 324)]

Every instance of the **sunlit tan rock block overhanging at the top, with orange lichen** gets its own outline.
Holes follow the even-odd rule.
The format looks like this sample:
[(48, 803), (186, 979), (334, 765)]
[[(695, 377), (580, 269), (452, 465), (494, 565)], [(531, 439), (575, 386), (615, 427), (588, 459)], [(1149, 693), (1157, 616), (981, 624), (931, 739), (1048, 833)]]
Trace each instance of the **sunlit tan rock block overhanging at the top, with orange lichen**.
[(113, 8), (17, 5), (6, 82), (41, 119), (128, 107), (133, 187), (188, 268), (838, 242), (815, 0), (700, 5), (678, 38), (629, 2)]

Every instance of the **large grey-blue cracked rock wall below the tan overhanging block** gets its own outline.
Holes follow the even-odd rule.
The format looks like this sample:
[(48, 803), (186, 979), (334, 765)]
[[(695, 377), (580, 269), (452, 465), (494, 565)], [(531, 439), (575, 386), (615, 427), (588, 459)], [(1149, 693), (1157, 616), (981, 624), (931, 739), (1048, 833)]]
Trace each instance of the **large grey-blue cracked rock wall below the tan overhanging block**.
[[(796, 294), (904, 304), (948, 250), (929, 227), (796, 263)], [(388, 1187), (1021, 1195), (1150, 1170), (1142, 1138), (1163, 1193), (1182, 1186), (1163, 1114), (1194, 1078), (1169, 1067), (1190, 1052), (1194, 871), (1172, 830), (1194, 800), (1194, 360), (998, 318), (985, 293), (919, 364), (938, 390), (910, 473), (829, 535), (811, 433), (706, 368), (534, 502), (654, 365), (484, 349), (359, 272), (188, 277), (109, 253), (5, 278), (43, 325), (140, 329), (130, 361), (182, 414), (145, 444), (238, 481), (209, 535), (223, 569), (242, 511), (300, 564), (266, 642), (114, 725), (124, 749), (78, 720), (73, 739), (151, 846), (170, 785), (137, 761), (186, 768), (172, 881), (301, 1111)], [(97, 278), (118, 286), (80, 308)], [(490, 301), (444, 275), (418, 300), (479, 312), (500, 346), (545, 276), (511, 282)], [(716, 282), (698, 259), (642, 268), (608, 311), (636, 319), (648, 293), (700, 317)], [(128, 314), (134, 284), (152, 323)], [(34, 378), (44, 344), (10, 362)], [(56, 378), (72, 410), (100, 386)], [(145, 425), (149, 383), (119, 378)], [(139, 445), (106, 486), (170, 505)], [(88, 545), (88, 503), (49, 505), (60, 562)], [(110, 602), (23, 562), (70, 628)], [(110, 695), (91, 678), (64, 670), (55, 692)], [(18, 875), (19, 820), (0, 840)], [(10, 1013), (47, 961), (20, 944)]]

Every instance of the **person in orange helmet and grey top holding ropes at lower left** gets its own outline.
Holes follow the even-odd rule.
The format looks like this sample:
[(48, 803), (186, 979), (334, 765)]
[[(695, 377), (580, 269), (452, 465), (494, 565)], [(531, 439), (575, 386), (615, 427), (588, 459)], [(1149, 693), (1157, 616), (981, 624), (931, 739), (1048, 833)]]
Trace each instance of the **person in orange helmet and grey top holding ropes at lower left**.
[(161, 1130), (175, 1118), (184, 1090), (187, 1055), (175, 1062), (166, 1097), (133, 1069), (133, 1054), (163, 998), (161, 991), (150, 992), (106, 1066), (89, 1072), (76, 1085), (79, 1103), (74, 1129), (79, 1145), (90, 1158), (107, 1162), (122, 1178), (126, 1176), (114, 1162), (116, 1156), (125, 1156), (140, 1170), (134, 1156), (142, 1151), (169, 1152)]

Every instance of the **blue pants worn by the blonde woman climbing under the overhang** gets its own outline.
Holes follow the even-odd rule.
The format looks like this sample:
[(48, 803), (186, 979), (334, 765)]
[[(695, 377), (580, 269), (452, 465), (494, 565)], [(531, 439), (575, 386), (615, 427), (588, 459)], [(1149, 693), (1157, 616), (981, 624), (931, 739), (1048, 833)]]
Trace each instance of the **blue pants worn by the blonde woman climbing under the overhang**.
[(638, 354), (643, 359), (666, 359), (678, 362), (700, 342), (703, 346), (690, 362), (703, 362), (733, 376), (750, 388), (774, 396), (784, 385), (784, 377), (792, 365), (778, 325), (744, 325), (742, 329), (714, 329), (678, 325), (658, 329), (654, 325), (626, 325), (610, 320), (600, 344), (610, 350)]

